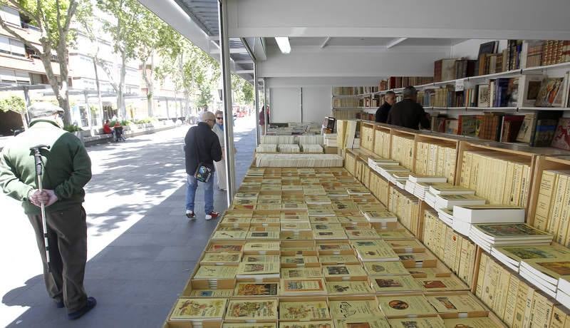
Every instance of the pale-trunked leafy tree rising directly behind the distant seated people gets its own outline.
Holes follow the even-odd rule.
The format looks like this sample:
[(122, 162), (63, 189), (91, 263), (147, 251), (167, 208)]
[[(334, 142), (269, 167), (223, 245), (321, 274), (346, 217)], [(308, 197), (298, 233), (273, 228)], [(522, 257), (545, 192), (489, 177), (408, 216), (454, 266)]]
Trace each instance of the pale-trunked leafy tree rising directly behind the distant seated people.
[(137, 0), (98, 0), (99, 9), (115, 17), (115, 21), (104, 21), (103, 29), (113, 38), (115, 53), (120, 55), (119, 81), (115, 81), (111, 68), (104, 64), (103, 70), (109, 76), (111, 85), (117, 93), (117, 108), (122, 118), (127, 117), (125, 107), (125, 76), (127, 61), (135, 58), (140, 34), (138, 24), (143, 19), (144, 7)]

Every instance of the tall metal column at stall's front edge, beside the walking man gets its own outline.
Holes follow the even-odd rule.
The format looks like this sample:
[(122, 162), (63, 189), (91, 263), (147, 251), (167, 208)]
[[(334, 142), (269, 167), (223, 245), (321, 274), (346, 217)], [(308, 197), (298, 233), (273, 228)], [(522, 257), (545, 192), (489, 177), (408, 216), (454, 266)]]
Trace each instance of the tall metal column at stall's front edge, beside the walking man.
[(236, 193), (236, 173), (234, 156), (234, 128), (232, 113), (232, 72), (229, 71), (229, 38), (227, 31), (227, 0), (218, 0), (220, 63), (222, 64), (222, 101), (224, 102), (225, 160), (227, 179), (227, 205), (232, 204)]

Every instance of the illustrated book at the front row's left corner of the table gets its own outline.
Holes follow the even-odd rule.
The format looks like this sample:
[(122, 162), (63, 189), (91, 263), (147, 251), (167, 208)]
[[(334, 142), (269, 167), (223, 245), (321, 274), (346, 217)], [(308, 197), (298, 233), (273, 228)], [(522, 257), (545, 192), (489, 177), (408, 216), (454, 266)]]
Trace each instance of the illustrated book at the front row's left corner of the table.
[(170, 320), (201, 322), (222, 319), (226, 304), (227, 299), (180, 298), (170, 314)]

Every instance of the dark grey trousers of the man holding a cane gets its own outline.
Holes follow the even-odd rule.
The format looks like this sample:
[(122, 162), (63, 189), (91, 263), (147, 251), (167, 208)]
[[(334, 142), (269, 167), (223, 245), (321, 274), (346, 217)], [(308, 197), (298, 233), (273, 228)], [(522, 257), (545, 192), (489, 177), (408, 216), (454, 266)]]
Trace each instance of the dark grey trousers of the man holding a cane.
[(63, 301), (69, 313), (87, 304), (83, 276), (87, 261), (86, 212), (81, 205), (63, 211), (46, 212), (50, 269), (46, 264), (41, 215), (28, 215), (43, 262), (43, 280), (49, 296)]

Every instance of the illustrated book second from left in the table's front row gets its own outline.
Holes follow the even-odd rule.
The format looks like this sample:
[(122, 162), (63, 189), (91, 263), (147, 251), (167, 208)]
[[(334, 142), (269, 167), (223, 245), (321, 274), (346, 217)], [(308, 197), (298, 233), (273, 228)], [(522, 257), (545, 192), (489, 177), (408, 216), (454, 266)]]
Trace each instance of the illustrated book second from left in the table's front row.
[(232, 299), (229, 301), (226, 320), (276, 320), (277, 299)]

